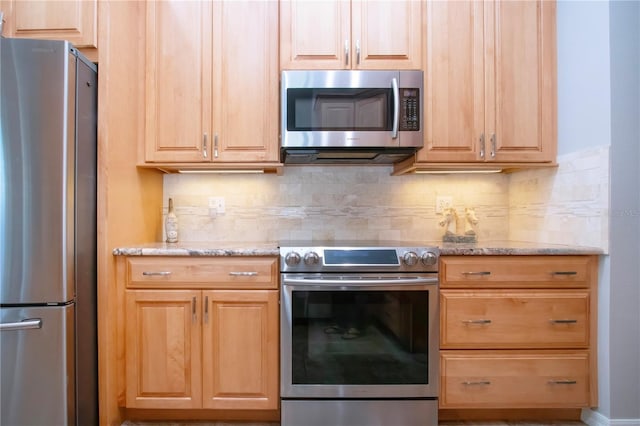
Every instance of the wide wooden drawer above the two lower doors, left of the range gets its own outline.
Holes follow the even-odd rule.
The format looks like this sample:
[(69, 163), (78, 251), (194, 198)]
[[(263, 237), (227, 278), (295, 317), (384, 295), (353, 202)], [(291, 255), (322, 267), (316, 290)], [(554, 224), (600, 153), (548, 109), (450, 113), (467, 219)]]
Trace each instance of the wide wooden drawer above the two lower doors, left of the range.
[(129, 257), (128, 288), (277, 289), (277, 257)]

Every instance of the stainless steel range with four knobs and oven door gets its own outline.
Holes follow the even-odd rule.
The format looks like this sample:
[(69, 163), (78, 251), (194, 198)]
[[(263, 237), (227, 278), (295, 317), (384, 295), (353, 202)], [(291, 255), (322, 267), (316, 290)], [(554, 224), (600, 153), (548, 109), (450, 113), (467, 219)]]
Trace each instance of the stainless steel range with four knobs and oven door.
[(282, 243), (282, 426), (436, 425), (438, 257)]

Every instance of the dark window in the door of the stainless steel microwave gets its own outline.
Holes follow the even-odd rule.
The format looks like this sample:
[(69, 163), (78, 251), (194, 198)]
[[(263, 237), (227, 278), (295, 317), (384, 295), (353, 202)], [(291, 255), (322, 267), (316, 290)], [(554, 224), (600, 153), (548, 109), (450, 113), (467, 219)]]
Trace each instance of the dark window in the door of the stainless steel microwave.
[(391, 131), (391, 89), (288, 89), (289, 131)]

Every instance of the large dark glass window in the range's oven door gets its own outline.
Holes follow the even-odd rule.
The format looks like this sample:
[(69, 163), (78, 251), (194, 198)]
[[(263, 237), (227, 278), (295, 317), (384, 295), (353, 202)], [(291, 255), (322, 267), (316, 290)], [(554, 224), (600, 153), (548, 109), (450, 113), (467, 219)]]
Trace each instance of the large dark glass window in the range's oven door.
[(293, 384), (428, 384), (428, 298), (428, 291), (294, 291)]

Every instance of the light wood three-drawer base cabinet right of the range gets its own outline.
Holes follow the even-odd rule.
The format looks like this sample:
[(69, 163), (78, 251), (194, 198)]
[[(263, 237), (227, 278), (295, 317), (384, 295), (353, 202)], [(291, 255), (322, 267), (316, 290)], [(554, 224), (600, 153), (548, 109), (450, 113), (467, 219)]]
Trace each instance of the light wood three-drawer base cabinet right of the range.
[(597, 256), (442, 256), (441, 409), (597, 405)]

